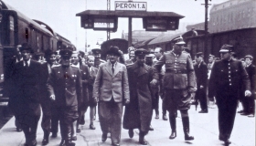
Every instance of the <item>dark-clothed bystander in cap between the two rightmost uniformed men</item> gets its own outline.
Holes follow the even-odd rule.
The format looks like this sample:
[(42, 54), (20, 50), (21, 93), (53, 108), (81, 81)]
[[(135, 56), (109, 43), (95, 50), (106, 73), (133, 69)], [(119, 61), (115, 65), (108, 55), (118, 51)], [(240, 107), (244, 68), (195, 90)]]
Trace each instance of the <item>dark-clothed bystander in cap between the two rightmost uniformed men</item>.
[(208, 113), (207, 100), (207, 82), (208, 82), (208, 66), (203, 60), (203, 53), (196, 54), (195, 74), (197, 77), (197, 91), (195, 99), (199, 99), (201, 111), (199, 113)]

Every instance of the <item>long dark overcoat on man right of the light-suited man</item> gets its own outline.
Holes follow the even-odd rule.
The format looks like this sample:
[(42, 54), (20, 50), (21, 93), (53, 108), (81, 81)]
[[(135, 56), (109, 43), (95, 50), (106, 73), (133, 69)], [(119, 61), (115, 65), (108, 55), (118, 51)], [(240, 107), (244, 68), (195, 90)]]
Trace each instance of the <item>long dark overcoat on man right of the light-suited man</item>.
[(135, 62), (127, 66), (130, 103), (125, 106), (123, 128), (140, 129), (147, 132), (152, 119), (152, 93), (150, 81), (153, 79), (153, 68), (144, 64), (139, 67)]

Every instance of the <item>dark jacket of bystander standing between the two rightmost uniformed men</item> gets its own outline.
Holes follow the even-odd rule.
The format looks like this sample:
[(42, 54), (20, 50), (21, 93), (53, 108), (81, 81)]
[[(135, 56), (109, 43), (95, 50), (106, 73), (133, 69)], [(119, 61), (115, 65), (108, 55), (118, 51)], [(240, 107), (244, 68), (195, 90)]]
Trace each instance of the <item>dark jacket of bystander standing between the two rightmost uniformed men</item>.
[(197, 77), (197, 89), (200, 89), (200, 86), (203, 86), (204, 89), (207, 89), (208, 84), (208, 66), (207, 64), (202, 61), (199, 65), (196, 65), (195, 67), (195, 74)]

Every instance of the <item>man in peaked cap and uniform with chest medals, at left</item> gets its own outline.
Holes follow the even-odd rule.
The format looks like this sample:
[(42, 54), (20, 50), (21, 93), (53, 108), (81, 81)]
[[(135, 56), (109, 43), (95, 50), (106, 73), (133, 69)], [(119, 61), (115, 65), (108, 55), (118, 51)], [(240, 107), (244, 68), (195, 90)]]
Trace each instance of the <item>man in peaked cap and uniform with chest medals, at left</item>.
[[(61, 142), (59, 145), (74, 146), (71, 142), (71, 128), (77, 120), (78, 109), (82, 103), (82, 84), (80, 69), (70, 66), (72, 48), (59, 51), (61, 65), (51, 69), (48, 79), (48, 93), (52, 100), (56, 100), (56, 110), (60, 117)], [(65, 143), (64, 143), (65, 142)]]

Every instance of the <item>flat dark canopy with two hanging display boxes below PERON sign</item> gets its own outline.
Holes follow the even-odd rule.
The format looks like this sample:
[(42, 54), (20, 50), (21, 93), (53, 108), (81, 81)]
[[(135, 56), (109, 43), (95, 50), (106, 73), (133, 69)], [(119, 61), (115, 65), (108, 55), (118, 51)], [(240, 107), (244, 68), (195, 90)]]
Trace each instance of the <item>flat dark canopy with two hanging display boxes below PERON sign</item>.
[(184, 16), (174, 12), (129, 11), (129, 10), (86, 10), (80, 12), (80, 26), (85, 29), (110, 30), (115, 32), (118, 17), (143, 18), (146, 31), (166, 31), (178, 29), (179, 19)]

